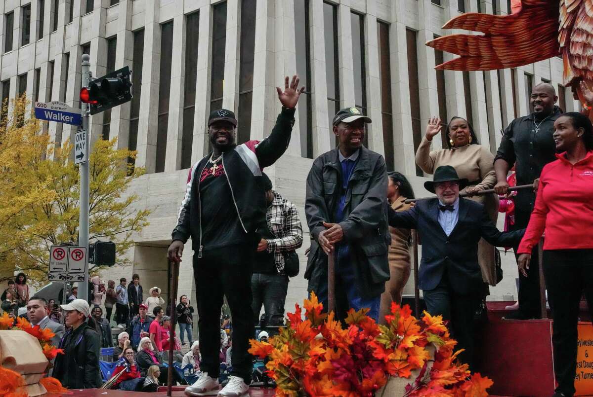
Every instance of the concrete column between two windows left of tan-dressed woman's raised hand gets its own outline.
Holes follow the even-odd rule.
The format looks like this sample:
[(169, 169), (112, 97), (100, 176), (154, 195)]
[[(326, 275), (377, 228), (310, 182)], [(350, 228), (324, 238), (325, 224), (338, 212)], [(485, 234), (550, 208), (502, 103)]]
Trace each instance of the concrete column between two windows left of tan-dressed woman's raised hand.
[(406, 15), (404, 2), (391, 7), (389, 46), (391, 55), (391, 106), (393, 108), (393, 150), (395, 169), (406, 175), (416, 175), (410, 85), (407, 67)]

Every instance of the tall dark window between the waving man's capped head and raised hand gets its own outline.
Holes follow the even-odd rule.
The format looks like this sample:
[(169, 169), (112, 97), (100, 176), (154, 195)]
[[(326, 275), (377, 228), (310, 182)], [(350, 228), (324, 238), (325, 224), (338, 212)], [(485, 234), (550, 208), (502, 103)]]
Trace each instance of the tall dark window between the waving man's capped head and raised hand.
[(244, 143), (249, 140), (251, 133), (253, 60), (256, 45), (256, 0), (241, 0), (240, 43), (237, 143)]

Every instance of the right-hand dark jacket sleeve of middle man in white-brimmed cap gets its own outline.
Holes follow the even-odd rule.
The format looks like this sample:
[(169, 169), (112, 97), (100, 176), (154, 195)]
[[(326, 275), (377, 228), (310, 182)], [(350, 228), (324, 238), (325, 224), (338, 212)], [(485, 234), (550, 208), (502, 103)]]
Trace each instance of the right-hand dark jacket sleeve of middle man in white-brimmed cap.
[(383, 156), (380, 156), (372, 172), (368, 191), (366, 191), (362, 201), (350, 212), (345, 220), (340, 222), (344, 240), (360, 240), (370, 231), (377, 230), (381, 225), (381, 221), (385, 221), (386, 207), (387, 166)]

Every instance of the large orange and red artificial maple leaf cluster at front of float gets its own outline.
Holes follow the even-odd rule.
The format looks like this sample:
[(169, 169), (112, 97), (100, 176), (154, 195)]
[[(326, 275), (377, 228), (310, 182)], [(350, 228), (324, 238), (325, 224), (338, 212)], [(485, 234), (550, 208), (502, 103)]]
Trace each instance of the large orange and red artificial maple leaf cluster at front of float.
[(302, 319), (295, 305), (287, 327), (269, 343), (250, 340), (251, 354), (269, 358), (267, 374), (276, 381), (276, 396), (372, 397), (390, 377), (410, 380), (403, 397), (481, 397), (493, 384), (458, 362), (457, 341), (442, 316), (425, 311), (419, 320), (410, 306), (392, 304), (387, 325), (378, 325), (366, 315), (368, 309), (350, 309), (343, 328), (333, 312), (322, 312), (315, 293), (305, 299), (304, 309)]

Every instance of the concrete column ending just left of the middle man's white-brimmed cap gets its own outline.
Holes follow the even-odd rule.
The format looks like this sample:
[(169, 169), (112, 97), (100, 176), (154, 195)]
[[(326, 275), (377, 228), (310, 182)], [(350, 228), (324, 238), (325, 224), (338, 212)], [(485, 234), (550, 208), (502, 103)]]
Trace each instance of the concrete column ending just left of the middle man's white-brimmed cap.
[(323, 0), (310, 1), (311, 23), (311, 108), (313, 109), (313, 158), (333, 147), (333, 135), (327, 120), (326, 45), (323, 25)]

